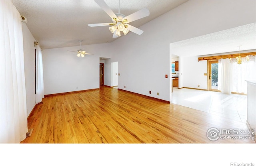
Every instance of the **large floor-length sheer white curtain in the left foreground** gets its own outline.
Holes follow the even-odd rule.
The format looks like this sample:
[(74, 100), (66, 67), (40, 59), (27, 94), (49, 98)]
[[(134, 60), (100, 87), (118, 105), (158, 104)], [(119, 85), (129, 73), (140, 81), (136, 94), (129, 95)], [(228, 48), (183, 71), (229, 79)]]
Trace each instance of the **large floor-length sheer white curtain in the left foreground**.
[(21, 17), (10, 0), (0, 0), (0, 143), (26, 138), (26, 89)]

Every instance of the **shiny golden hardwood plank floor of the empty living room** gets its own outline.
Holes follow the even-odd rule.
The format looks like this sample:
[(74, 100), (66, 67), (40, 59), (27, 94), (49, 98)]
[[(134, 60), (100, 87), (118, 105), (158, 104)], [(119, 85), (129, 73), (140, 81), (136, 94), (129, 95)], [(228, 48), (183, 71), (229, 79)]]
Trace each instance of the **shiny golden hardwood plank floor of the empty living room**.
[(209, 128), (248, 129), (203, 111), (116, 88), (52, 95), (28, 117), (32, 135), (21, 143), (255, 143), (210, 141)]

